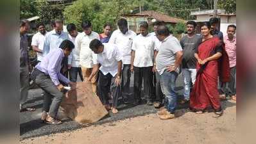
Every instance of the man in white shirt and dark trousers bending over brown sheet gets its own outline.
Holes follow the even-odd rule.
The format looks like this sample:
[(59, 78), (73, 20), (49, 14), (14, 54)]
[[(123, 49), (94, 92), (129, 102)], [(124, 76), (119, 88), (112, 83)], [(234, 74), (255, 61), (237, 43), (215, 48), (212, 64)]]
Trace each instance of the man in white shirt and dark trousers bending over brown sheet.
[[(117, 101), (121, 94), (121, 71), (122, 71), (122, 54), (116, 45), (105, 43), (94, 39), (90, 42), (90, 49), (94, 52), (94, 68), (90, 74), (89, 81), (96, 76), (99, 70), (98, 94), (105, 108), (110, 109), (108, 103), (108, 92), (111, 91), (113, 96), (112, 113), (118, 113)], [(99, 68), (99, 63), (101, 67)]]

